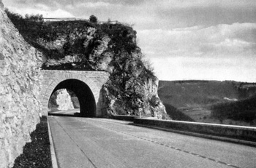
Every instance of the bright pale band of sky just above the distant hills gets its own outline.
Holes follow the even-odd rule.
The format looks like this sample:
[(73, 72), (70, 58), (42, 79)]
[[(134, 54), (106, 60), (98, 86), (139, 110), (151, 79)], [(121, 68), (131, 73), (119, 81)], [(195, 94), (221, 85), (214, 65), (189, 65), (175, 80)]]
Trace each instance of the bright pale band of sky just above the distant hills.
[(234, 80), (256, 81), (256, 58), (217, 59), (196, 57), (151, 58), (155, 73), (160, 80)]

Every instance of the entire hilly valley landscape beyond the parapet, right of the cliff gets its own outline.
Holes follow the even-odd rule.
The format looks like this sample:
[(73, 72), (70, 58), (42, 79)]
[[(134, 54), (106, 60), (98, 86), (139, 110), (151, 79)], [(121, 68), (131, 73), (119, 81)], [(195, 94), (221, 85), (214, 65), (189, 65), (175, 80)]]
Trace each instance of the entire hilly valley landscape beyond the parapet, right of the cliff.
[(175, 120), (256, 126), (256, 83), (159, 81), (158, 95)]

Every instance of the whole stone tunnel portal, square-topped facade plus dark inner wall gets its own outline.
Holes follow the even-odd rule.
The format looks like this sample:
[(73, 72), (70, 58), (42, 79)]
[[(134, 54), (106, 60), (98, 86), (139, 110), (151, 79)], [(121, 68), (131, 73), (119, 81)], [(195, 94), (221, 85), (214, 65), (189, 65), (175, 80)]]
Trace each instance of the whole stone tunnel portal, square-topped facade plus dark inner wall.
[(59, 89), (75, 92), (80, 103), (80, 115), (88, 117), (105, 116), (102, 87), (108, 81), (109, 73), (103, 71), (42, 71), (41, 103), (42, 115), (48, 115), (50, 96)]

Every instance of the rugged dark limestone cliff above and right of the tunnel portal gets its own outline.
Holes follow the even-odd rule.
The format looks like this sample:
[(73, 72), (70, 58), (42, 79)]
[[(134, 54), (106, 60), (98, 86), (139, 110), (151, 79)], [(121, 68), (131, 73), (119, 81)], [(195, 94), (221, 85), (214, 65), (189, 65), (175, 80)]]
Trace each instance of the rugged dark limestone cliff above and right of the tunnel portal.
[[(31, 23), (29, 23), (31, 24)], [(122, 24), (86, 20), (45, 22), (25, 26), (24, 38), (45, 56), (44, 69), (108, 71), (103, 86), (108, 115), (157, 116), (165, 107), (157, 95), (157, 77), (143, 64), (136, 31)], [(36, 32), (34, 36), (27, 32)]]

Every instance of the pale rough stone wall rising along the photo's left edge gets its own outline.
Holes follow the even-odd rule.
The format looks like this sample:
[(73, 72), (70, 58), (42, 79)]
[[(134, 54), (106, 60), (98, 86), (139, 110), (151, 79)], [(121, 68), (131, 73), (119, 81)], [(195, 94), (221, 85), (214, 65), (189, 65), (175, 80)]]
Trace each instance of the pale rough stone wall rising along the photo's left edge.
[(41, 57), (20, 36), (0, 1), (0, 167), (12, 167), (39, 122)]

